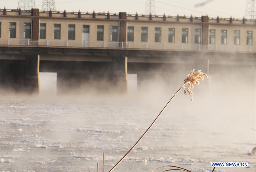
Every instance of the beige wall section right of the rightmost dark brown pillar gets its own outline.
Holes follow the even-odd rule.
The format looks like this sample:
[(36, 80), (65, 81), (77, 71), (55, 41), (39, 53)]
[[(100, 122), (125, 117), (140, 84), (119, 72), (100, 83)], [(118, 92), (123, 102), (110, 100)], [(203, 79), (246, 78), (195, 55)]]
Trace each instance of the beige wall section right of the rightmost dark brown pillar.
[(247, 31), (253, 31), (253, 45), (256, 42), (256, 26), (232, 26), (232, 25), (220, 25), (210, 24), (209, 30), (215, 29), (215, 43), (216, 45), (221, 44), (221, 30), (227, 30), (227, 45), (234, 45), (234, 30), (240, 30), (240, 45), (246, 46)]

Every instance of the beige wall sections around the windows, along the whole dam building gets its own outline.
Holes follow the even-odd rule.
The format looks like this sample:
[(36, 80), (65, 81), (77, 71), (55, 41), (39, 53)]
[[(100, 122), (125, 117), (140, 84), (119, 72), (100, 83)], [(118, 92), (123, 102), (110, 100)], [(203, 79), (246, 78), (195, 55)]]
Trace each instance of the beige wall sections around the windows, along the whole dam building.
[[(16, 22), (16, 39), (23, 38), (23, 24), (24, 22), (31, 22), (30, 18), (21, 17), (0, 17), (1, 21), (1, 39), (9, 38), (9, 22)], [(46, 23), (46, 40), (54, 40), (54, 24), (61, 24), (61, 40), (68, 39), (68, 24), (75, 24), (75, 40), (82, 41), (83, 25), (90, 25), (90, 41), (97, 41), (97, 25), (104, 25), (104, 41), (110, 42), (110, 29), (111, 26), (118, 26), (119, 21), (104, 20), (79, 20), (79, 19), (66, 19), (66, 18), (40, 18), (40, 23)], [(152, 21), (127, 21), (127, 26), (134, 26), (134, 43), (141, 42), (141, 27), (148, 27), (148, 43), (155, 43), (155, 27), (161, 27), (161, 43), (168, 43), (168, 28), (175, 28), (175, 43), (181, 44), (182, 28), (189, 29), (188, 44), (194, 43), (194, 31), (196, 28), (201, 28), (202, 23), (163, 23)], [(216, 30), (216, 45), (221, 45), (221, 30), (228, 31), (227, 45), (234, 45), (234, 30), (240, 30), (240, 45), (246, 46), (246, 32), (253, 31), (253, 46), (256, 45), (256, 26), (255, 25), (233, 25), (233, 24), (210, 24), (209, 30)], [(13, 38), (14, 39), (14, 38)], [(156, 43), (160, 44), (160, 43)]]

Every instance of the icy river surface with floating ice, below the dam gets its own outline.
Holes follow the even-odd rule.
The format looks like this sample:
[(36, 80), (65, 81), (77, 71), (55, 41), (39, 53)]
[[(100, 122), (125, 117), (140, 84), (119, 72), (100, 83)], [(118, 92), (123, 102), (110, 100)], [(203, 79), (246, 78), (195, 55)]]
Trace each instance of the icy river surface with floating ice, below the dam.
[[(171, 94), (170, 94), (171, 95)], [(211, 162), (248, 162), (255, 171), (255, 111), (234, 103), (179, 95), (142, 141), (114, 171), (152, 171), (176, 165), (212, 171)], [(107, 99), (105, 99), (107, 100)], [(159, 113), (168, 98), (143, 101), (85, 101), (68, 98), (1, 97), (1, 171), (109, 170)], [(195, 101), (195, 102), (196, 102)], [(200, 102), (200, 103), (199, 103)], [(152, 105), (153, 104), (153, 105)], [(237, 104), (238, 105), (238, 104)]]

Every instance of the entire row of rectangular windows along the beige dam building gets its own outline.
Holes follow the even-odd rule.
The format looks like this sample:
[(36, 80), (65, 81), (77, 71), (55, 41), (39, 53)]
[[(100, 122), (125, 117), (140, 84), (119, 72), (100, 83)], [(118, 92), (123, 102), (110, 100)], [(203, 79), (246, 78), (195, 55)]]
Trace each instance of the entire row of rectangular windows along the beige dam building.
[[(90, 25), (83, 25), (83, 33), (89, 33)], [(61, 24), (54, 24), (54, 39), (60, 39)], [(111, 26), (111, 41), (118, 41), (118, 26)], [(182, 29), (182, 43), (188, 43), (188, 28)], [(209, 44), (215, 44), (215, 29), (209, 31)], [(46, 23), (40, 23), (40, 39), (46, 39)], [(228, 31), (221, 30), (221, 44), (227, 44)], [(31, 23), (24, 23), (24, 38), (31, 36)], [(0, 22), (1, 37), (1, 22)], [(103, 41), (104, 26), (97, 26), (97, 41)], [(16, 38), (16, 22), (9, 22), (9, 38)], [(75, 24), (68, 25), (68, 39), (75, 40)], [(246, 44), (252, 45), (253, 32), (247, 31)], [(127, 41), (134, 41), (134, 26), (127, 28)], [(148, 27), (141, 27), (141, 41), (148, 42)], [(155, 42), (161, 42), (161, 28), (155, 28)], [(175, 42), (175, 28), (168, 30), (168, 42)], [(201, 43), (201, 29), (195, 29), (195, 43)], [(240, 45), (240, 30), (234, 30), (234, 45)]]

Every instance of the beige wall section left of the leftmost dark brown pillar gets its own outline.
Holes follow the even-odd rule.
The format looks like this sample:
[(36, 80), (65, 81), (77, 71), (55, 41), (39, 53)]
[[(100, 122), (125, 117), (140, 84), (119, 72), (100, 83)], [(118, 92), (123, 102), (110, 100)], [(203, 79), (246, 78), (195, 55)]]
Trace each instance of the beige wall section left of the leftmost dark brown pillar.
[[(24, 23), (30, 23), (30, 18), (1, 17), (1, 39), (9, 38), (9, 22), (16, 22), (16, 39), (25, 39), (23, 34)], [(15, 39), (15, 38), (11, 38)]]

